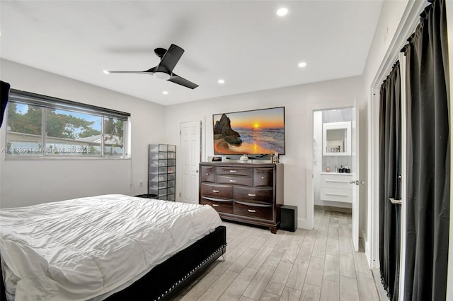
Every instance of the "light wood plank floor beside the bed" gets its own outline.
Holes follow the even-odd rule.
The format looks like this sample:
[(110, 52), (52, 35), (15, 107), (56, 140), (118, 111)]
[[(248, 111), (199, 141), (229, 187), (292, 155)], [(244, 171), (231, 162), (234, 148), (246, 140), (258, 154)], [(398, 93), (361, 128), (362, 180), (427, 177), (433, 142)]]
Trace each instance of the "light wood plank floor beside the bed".
[(226, 256), (174, 300), (379, 300), (351, 216), (316, 209), (314, 230), (226, 223)]

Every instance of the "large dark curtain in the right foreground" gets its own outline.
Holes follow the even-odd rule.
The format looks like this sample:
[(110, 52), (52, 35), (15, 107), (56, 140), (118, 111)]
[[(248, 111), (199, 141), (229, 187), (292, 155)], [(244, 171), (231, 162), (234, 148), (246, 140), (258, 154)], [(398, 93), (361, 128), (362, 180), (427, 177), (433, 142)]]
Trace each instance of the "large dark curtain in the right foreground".
[(425, 8), (406, 54), (408, 200), (404, 300), (445, 300), (449, 71), (445, 1)]

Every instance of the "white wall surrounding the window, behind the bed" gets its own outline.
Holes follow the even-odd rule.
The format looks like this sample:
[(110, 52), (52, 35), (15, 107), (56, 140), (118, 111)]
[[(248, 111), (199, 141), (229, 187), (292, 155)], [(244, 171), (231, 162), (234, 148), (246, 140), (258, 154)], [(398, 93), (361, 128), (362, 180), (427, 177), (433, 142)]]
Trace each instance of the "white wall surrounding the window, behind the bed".
[[(1, 208), (98, 194), (147, 193), (147, 145), (164, 141), (163, 106), (4, 59), (0, 70), (1, 80), (11, 88), (129, 112), (132, 119), (132, 159), (5, 160), (0, 153)], [(5, 134), (3, 125), (0, 149), (5, 147)]]

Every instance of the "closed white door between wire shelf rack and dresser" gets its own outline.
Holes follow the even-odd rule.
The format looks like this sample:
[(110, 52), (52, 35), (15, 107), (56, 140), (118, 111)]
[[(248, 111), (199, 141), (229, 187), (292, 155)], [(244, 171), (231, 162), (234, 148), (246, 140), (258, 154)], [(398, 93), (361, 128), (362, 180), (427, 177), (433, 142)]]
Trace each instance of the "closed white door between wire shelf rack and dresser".
[(198, 203), (198, 166), (201, 160), (201, 122), (180, 124), (180, 151), (183, 179), (180, 199), (185, 203)]

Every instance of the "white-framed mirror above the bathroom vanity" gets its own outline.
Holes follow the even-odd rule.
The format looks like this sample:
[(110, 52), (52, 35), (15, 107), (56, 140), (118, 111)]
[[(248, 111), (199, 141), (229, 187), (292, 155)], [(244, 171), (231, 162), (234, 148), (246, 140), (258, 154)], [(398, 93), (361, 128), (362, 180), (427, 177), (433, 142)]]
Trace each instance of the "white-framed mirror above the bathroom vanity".
[(351, 155), (351, 123), (323, 124), (323, 155)]

